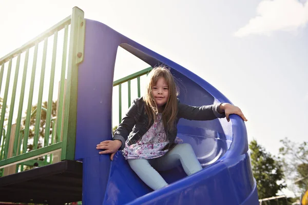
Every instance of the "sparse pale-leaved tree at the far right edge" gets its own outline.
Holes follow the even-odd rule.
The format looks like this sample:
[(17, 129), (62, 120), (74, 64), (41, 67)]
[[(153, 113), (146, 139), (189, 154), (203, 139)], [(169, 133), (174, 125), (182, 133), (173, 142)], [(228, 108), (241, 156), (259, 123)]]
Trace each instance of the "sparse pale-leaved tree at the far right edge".
[[(288, 179), (296, 183), (293, 192), (304, 192), (308, 189), (308, 141), (297, 144), (288, 138), (280, 140), (282, 147), (279, 149), (283, 159), (283, 169)], [(290, 186), (292, 187), (292, 186)]]

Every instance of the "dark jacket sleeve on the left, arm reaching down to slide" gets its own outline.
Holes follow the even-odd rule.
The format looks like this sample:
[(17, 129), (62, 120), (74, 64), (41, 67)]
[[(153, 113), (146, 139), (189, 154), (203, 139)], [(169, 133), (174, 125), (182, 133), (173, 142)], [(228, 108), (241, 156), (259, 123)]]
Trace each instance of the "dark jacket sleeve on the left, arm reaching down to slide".
[(125, 148), (125, 141), (129, 133), (132, 131), (132, 128), (136, 124), (136, 120), (134, 116), (137, 115), (138, 107), (137, 107), (137, 100), (133, 100), (130, 108), (128, 109), (126, 116), (122, 119), (122, 122), (118, 126), (117, 130), (114, 131), (113, 140), (118, 139), (122, 142), (122, 146), (120, 150)]

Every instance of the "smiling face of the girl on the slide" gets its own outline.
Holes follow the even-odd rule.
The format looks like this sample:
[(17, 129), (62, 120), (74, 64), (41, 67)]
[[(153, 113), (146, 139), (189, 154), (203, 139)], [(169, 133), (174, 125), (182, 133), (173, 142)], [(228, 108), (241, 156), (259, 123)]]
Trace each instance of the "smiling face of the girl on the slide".
[(155, 99), (158, 110), (161, 111), (169, 97), (169, 87), (163, 77), (158, 78), (156, 85), (152, 86), (152, 95)]

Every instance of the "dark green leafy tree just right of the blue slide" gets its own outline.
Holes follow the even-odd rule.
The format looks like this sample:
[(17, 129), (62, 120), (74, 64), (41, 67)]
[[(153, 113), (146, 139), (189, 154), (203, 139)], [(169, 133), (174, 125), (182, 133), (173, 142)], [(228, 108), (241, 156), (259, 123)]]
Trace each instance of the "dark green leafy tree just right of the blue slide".
[(252, 168), (257, 181), (259, 198), (276, 196), (279, 190), (286, 187), (283, 181), (282, 163), (267, 153), (256, 140), (249, 143), (249, 149), (251, 150)]

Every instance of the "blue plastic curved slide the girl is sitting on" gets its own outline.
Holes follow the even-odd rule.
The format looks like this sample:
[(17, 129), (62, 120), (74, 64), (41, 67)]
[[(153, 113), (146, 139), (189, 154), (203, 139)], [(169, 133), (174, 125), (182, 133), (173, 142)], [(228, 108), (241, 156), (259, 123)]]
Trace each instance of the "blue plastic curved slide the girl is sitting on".
[[(189, 143), (203, 170), (186, 176), (181, 167), (161, 172), (169, 183), (152, 191), (118, 152), (111, 162), (95, 149), (111, 139), (114, 62), (118, 47), (152, 67), (165, 64), (181, 82), (181, 103), (192, 106), (230, 101), (205, 80), (133, 42), (108, 26), (86, 20), (84, 61), (79, 66), (75, 159), (83, 161), (83, 204), (258, 204), (243, 120), (180, 119), (178, 137)], [(128, 67), (129, 68), (129, 67)]]

